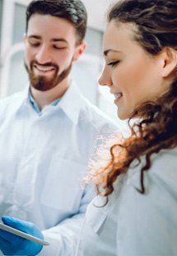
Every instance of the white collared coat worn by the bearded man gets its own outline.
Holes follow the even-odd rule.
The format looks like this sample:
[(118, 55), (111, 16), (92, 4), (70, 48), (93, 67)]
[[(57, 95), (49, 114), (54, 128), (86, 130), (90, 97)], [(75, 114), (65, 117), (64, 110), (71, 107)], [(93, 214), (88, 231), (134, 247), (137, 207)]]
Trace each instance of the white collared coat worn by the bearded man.
[(93, 192), (82, 189), (89, 159), (113, 122), (73, 84), (57, 106), (40, 115), (29, 89), (0, 101), (0, 216), (28, 220), (44, 230), (41, 255), (72, 255)]

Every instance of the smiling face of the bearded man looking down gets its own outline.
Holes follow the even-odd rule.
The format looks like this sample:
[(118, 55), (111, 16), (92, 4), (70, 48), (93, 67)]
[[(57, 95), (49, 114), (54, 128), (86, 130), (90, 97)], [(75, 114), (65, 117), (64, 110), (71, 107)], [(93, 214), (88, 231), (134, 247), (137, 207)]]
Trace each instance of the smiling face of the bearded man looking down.
[(33, 88), (47, 91), (68, 77), (72, 62), (82, 51), (83, 45), (76, 45), (76, 41), (75, 28), (66, 19), (40, 14), (30, 17), (24, 42)]

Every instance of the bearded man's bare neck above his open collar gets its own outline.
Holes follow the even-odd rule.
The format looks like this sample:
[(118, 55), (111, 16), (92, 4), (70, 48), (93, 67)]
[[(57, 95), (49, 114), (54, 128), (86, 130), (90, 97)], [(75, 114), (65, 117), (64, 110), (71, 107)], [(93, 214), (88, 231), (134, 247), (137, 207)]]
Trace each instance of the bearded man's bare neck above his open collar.
[(41, 110), (59, 97), (63, 97), (63, 94), (67, 91), (69, 84), (70, 79), (65, 78), (61, 83), (58, 83), (58, 85), (48, 91), (42, 92), (30, 86), (30, 92)]

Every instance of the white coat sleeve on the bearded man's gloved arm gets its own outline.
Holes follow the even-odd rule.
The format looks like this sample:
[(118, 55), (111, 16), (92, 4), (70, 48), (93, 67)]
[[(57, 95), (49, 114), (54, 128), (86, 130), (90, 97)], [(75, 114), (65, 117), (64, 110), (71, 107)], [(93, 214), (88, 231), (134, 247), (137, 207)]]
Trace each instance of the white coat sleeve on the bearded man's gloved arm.
[(49, 246), (44, 246), (39, 255), (72, 256), (76, 254), (77, 239), (80, 234), (82, 221), (85, 216), (86, 206), (94, 197), (92, 187), (86, 187), (77, 215), (63, 220), (60, 224), (44, 230), (44, 239), (49, 241)]

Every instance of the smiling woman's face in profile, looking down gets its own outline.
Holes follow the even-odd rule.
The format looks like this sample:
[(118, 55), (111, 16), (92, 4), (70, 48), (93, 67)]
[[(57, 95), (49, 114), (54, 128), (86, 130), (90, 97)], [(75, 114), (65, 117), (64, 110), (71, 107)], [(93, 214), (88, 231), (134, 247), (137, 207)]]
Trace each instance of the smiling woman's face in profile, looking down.
[(133, 24), (109, 22), (104, 55), (105, 67), (99, 83), (109, 86), (114, 94), (120, 119), (127, 119), (137, 105), (155, 99), (167, 89), (160, 55), (148, 55), (133, 40)]

